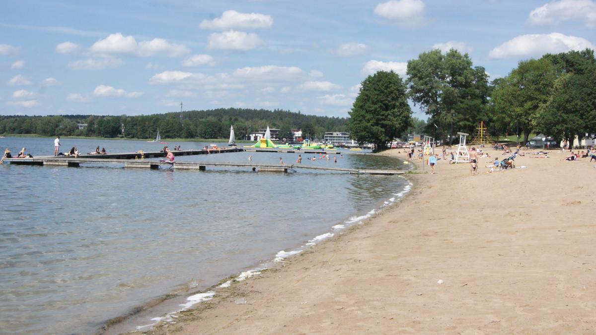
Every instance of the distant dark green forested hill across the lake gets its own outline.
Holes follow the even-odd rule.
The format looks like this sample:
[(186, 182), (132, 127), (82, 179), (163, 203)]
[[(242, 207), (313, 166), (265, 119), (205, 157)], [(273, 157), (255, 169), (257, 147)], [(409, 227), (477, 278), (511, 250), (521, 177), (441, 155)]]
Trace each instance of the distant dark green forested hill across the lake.
[[(291, 137), (291, 130), (302, 129), (306, 138), (322, 138), (325, 132), (344, 131), (347, 118), (305, 115), (275, 109), (219, 108), (208, 111), (168, 112), (139, 116), (54, 115), (45, 117), (0, 117), (1, 134), (41, 136), (124, 137), (151, 139), (159, 128), (163, 139), (225, 139), (234, 126), (237, 139), (258, 129), (280, 129), (280, 136)], [(79, 129), (78, 124), (87, 126)]]

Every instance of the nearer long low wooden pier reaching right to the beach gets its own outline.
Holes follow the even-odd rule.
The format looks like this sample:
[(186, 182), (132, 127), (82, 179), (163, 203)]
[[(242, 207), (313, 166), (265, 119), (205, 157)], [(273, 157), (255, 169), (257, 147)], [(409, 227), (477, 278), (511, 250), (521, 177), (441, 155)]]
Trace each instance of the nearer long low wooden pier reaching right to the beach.
[[(85, 155), (88, 156), (88, 155)], [(247, 171), (259, 172), (284, 172), (288, 170), (296, 171), (297, 169), (305, 170), (319, 170), (330, 171), (336, 173), (350, 173), (350, 174), (405, 174), (408, 171), (403, 170), (364, 170), (354, 168), (337, 168), (337, 167), (317, 167), (313, 165), (303, 164), (269, 164), (258, 162), (175, 162), (168, 163), (162, 161), (153, 161), (150, 159), (119, 159), (108, 157), (97, 157), (99, 155), (91, 155), (92, 158), (82, 157), (56, 157), (56, 156), (39, 156), (36, 158), (7, 158), (5, 162), (10, 162), (11, 165), (49, 165), (49, 166), (64, 166), (64, 167), (80, 167), (80, 164), (122, 164), (127, 168), (149, 168), (157, 170), (160, 167), (172, 168), (173, 170), (206, 170), (207, 167), (232, 167), (246, 169)], [(102, 155), (106, 156), (106, 155)]]

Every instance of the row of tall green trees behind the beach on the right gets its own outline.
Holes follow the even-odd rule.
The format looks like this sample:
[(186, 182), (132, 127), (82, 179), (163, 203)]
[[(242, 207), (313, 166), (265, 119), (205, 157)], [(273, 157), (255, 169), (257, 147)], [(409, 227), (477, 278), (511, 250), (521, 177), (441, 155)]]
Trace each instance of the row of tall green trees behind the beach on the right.
[(546, 54), (520, 61), (503, 78), (488, 82), (485, 68), (473, 66), (455, 49), (423, 52), (408, 61), (408, 97), (429, 116), (424, 133), (447, 140), (474, 134), (480, 121), (489, 134), (542, 133), (573, 145), (596, 133), (594, 50)]

